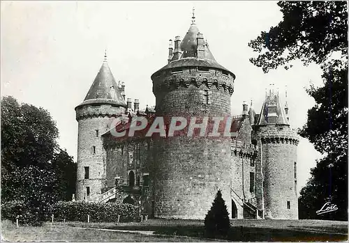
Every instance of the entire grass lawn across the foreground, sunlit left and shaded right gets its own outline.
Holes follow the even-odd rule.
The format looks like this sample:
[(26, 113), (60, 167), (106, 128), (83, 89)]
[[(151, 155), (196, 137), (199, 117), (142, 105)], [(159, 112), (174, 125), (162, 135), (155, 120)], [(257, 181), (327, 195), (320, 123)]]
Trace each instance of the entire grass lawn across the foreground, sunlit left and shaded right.
[[(229, 241), (316, 241), (334, 242), (348, 240), (348, 224), (341, 221), (320, 220), (232, 220), (232, 228), (225, 239)], [(38, 240), (90, 240), (90, 241), (212, 241), (205, 239), (202, 220), (149, 219), (142, 223), (46, 223), (41, 227), (20, 226), (2, 221), (1, 235), (9, 241)], [(80, 228), (75, 228), (80, 227)], [(154, 235), (96, 230), (144, 230)]]

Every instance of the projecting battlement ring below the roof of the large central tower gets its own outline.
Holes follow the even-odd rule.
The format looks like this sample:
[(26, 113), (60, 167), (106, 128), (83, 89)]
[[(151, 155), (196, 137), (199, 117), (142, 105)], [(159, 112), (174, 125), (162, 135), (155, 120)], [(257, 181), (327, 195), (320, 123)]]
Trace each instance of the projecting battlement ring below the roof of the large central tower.
[(229, 72), (210, 67), (180, 67), (158, 72), (153, 79), (153, 91), (156, 95), (191, 85), (200, 88), (202, 84), (207, 88), (215, 86), (222, 93), (232, 95), (234, 92), (234, 77)]

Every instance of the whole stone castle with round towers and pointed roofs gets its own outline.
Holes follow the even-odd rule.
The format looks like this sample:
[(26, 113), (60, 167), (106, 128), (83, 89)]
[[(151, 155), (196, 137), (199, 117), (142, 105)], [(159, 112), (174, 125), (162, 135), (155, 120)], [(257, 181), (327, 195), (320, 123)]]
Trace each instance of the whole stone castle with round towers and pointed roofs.
[(194, 16), (168, 54), (168, 64), (151, 75), (156, 106), (145, 110), (126, 100), (125, 84), (116, 83), (105, 55), (75, 108), (76, 199), (132, 203), (149, 217), (204, 219), (220, 189), (232, 219), (298, 219), (298, 139), (287, 103), (272, 89), (259, 114), (242, 105), (232, 117), (232, 137), (112, 136), (118, 117), (230, 116), (235, 75), (217, 63)]

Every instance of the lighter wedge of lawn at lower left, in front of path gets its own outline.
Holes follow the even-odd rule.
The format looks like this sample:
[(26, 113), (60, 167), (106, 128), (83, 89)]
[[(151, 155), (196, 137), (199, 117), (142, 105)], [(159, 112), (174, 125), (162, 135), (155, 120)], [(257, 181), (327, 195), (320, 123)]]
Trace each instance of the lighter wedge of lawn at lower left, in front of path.
[(1, 221), (1, 242), (17, 241), (113, 241), (113, 242), (188, 242), (190, 237), (175, 237), (172, 235), (142, 235), (139, 233), (112, 232), (93, 229), (79, 229), (64, 223), (46, 223), (41, 227), (20, 226), (16, 228), (8, 220)]

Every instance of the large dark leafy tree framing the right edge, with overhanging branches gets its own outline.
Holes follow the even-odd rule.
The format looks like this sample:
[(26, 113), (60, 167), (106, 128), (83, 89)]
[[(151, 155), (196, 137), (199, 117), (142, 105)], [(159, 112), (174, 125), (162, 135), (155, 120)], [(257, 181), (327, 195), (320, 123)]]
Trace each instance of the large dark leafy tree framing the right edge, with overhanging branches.
[[(325, 157), (311, 169), (299, 197), (299, 217), (348, 219), (348, 5), (346, 1), (280, 1), (283, 20), (248, 45), (258, 52), (251, 63), (264, 72), (293, 60), (322, 68), (323, 86), (307, 93), (316, 104), (299, 134)], [(331, 201), (339, 210), (316, 214)]]

